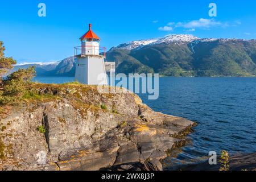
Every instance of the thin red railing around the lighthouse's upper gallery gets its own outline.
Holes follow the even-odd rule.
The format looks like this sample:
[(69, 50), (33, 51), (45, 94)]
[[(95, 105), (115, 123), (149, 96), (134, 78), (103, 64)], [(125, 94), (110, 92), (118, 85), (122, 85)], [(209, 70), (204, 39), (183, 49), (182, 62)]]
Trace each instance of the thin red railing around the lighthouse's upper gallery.
[(98, 46), (77, 46), (77, 47), (74, 47), (74, 55), (75, 56), (89, 55), (88, 51), (89, 52), (94, 51), (94, 54), (96, 54), (98, 52), (99, 55), (103, 55), (104, 57), (106, 57), (106, 47), (98, 47)]

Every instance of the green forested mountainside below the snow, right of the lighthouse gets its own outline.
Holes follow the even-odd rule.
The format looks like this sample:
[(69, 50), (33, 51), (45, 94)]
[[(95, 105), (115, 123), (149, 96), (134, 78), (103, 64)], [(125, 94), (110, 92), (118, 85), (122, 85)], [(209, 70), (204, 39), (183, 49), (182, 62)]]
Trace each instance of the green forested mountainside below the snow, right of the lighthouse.
[(118, 73), (159, 73), (174, 77), (256, 76), (256, 42), (217, 40), (190, 44), (156, 44), (141, 49), (113, 49)]

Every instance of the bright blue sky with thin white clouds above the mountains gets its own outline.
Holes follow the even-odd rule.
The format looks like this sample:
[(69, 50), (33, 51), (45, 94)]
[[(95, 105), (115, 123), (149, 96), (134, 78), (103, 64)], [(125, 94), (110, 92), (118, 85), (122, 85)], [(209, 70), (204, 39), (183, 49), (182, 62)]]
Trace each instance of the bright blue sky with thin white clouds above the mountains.
[[(216, 3), (217, 17), (208, 15)], [(46, 4), (46, 17), (38, 4)], [(1, 1), (0, 40), (6, 56), (21, 62), (58, 61), (73, 55), (93, 24), (108, 49), (131, 40), (168, 34), (256, 39), (256, 1)]]

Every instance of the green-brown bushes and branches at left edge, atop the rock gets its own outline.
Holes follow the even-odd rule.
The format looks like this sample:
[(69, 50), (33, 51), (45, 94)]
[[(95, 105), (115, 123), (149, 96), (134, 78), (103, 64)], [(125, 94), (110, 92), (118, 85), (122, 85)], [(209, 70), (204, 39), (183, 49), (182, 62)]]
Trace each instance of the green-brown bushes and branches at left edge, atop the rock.
[(3, 51), (5, 51), (5, 47), (0, 42), (0, 114), (6, 114), (6, 109), (3, 109), (6, 105), (22, 101), (42, 101), (53, 97), (52, 94), (39, 94), (35, 89), (35, 83), (31, 82), (32, 78), (36, 76), (35, 67), (19, 69), (4, 77), (5, 73), (13, 68), (16, 61), (11, 57), (5, 57)]

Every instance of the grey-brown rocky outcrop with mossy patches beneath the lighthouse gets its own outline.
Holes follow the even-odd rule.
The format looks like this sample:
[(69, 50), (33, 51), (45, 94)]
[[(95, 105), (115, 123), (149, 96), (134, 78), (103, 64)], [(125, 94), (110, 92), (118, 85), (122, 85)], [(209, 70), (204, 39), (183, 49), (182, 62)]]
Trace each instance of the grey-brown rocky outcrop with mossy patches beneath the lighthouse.
[(1, 116), (0, 170), (131, 169), (135, 163), (160, 170), (159, 160), (194, 125), (156, 113), (133, 93), (100, 94), (79, 84), (34, 88), (47, 99), (6, 106)]

